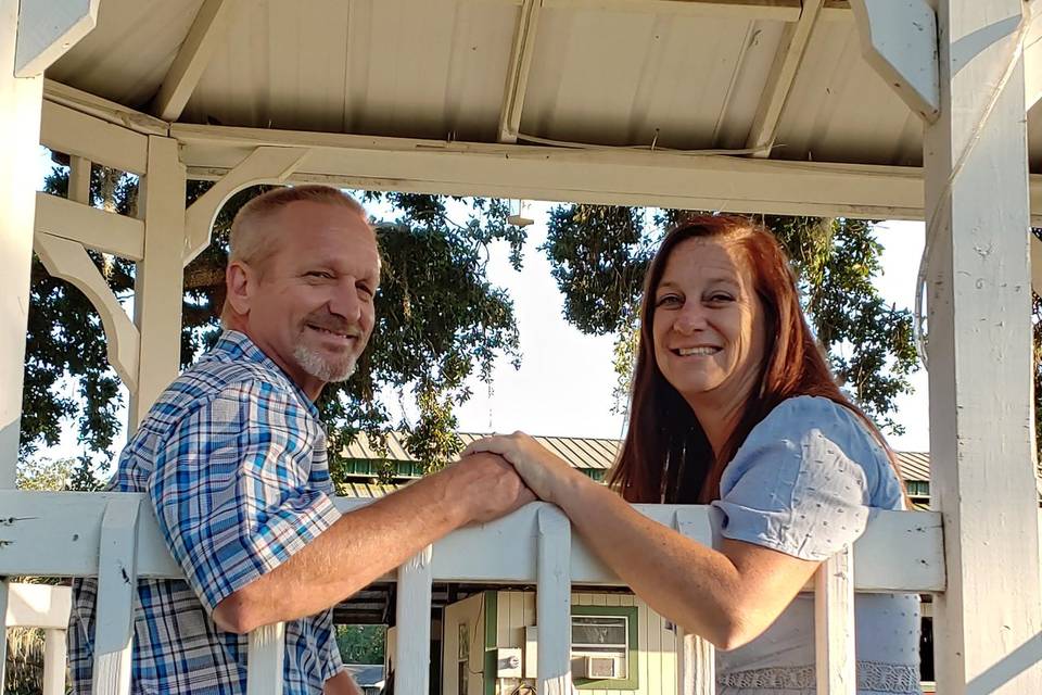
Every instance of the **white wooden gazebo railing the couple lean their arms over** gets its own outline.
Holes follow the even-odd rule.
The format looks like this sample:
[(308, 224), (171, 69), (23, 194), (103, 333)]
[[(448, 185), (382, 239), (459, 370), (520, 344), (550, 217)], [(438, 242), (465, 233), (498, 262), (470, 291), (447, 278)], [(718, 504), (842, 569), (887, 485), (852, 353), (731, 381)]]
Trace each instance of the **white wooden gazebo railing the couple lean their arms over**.
[[(143, 501), (144, 496), (138, 494), (0, 491), (0, 577), (99, 578), (94, 636), (98, 695), (129, 693), (132, 587), (137, 578), (182, 577)], [(339, 498), (336, 506), (347, 511), (368, 503)], [(689, 538), (702, 543), (712, 540), (706, 507), (638, 508)], [(403, 565), (397, 581), (394, 662), (399, 695), (429, 692), (432, 582), (536, 584), (541, 695), (571, 692), (571, 585), (622, 585), (580, 539), (572, 536), (563, 514), (545, 503), (533, 503), (497, 521), (452, 533)], [(815, 587), (818, 692), (854, 695), (854, 591), (942, 592), (940, 515), (874, 514), (853, 551), (822, 566)], [(0, 602), (3, 593), (0, 589)], [(713, 693), (712, 648), (692, 639), (685, 639), (683, 644), (683, 692)], [(251, 634), (249, 658), (250, 694), (281, 693), (281, 626)]]

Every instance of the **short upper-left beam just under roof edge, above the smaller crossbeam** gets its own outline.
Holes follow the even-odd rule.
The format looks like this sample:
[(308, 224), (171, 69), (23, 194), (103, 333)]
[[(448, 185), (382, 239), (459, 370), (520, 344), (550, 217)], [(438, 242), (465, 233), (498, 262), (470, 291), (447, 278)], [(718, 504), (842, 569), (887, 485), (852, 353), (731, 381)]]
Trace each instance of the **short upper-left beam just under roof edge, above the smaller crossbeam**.
[(43, 102), (39, 142), (65, 154), (75, 154), (123, 172), (144, 174), (148, 138), (52, 101)]

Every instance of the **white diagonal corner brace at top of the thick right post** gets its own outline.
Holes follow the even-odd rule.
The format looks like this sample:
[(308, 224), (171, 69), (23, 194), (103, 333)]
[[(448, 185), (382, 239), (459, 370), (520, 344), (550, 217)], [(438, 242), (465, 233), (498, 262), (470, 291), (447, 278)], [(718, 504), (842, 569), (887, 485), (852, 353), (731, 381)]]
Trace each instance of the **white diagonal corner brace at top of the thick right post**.
[(850, 0), (861, 54), (912, 111), (937, 119), (937, 14), (927, 0)]

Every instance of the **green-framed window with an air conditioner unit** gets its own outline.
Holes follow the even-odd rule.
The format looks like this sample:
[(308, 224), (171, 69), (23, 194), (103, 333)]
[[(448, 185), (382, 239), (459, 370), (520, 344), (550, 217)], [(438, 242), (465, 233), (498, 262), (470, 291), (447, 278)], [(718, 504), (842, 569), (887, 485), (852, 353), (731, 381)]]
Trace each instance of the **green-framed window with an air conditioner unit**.
[[(637, 690), (637, 615), (636, 606), (572, 606), (572, 673), (577, 688)], [(603, 675), (611, 671), (613, 677)], [(590, 675), (584, 678), (587, 672)]]

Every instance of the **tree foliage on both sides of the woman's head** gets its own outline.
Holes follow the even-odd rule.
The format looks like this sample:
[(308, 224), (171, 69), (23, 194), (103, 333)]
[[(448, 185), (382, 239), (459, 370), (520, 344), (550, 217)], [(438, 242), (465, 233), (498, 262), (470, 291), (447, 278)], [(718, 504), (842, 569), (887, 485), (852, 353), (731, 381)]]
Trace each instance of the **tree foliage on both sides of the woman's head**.
[[(628, 393), (645, 270), (664, 230), (684, 214), (660, 211), (650, 229), (630, 207), (561, 205), (550, 214), (543, 248), (566, 298), (566, 318), (587, 333), (615, 336), (617, 405)], [(792, 260), (803, 307), (840, 382), (880, 426), (900, 433), (892, 410), (916, 366), (912, 317), (887, 306), (873, 287), (882, 247), (871, 223), (763, 222)]]

